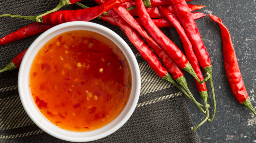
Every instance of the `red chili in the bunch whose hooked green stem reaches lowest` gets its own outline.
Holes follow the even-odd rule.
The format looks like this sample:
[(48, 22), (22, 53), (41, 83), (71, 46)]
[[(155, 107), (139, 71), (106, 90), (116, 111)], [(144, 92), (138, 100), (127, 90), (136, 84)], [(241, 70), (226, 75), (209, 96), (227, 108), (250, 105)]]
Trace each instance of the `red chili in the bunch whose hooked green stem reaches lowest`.
[[(161, 9), (161, 11), (166, 15), (166, 17), (170, 20), (170, 22), (176, 28), (176, 30), (177, 30), (180, 38), (181, 38), (181, 41), (182, 41), (182, 44), (183, 44), (183, 49), (185, 51), (186, 57), (187, 57), (188, 61), (191, 63), (191, 65), (192, 65), (193, 69), (195, 70), (198, 78), (200, 80), (202, 80), (203, 79), (203, 74), (202, 74), (202, 72), (200, 70), (197, 57), (196, 57), (196, 55), (195, 55), (195, 53), (193, 51), (192, 44), (189, 41), (189, 39), (188, 39), (188, 37), (187, 37), (187, 35), (185, 33), (185, 30), (181, 26), (179, 20), (175, 17), (175, 15), (173, 13), (171, 13), (168, 10), (167, 7), (159, 6), (159, 8)], [(201, 97), (203, 98), (204, 105), (206, 105), (205, 108), (206, 108), (207, 114), (206, 114), (206, 118), (198, 126), (196, 126), (195, 128), (191, 128), (192, 130), (196, 130), (199, 126), (201, 126), (209, 118), (209, 110), (208, 110), (208, 107), (207, 107), (207, 97), (208, 97), (208, 94), (207, 94), (206, 85), (205, 85), (205, 83), (200, 84), (197, 81), (195, 81), (195, 83), (196, 83), (196, 87), (197, 87)]]

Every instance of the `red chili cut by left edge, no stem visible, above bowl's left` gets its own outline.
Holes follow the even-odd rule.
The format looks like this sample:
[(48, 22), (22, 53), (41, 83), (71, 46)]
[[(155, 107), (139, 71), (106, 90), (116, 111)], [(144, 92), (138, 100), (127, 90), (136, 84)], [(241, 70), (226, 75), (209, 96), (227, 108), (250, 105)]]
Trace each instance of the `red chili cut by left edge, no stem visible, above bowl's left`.
[(55, 25), (34, 22), (0, 39), (0, 46), (44, 32)]

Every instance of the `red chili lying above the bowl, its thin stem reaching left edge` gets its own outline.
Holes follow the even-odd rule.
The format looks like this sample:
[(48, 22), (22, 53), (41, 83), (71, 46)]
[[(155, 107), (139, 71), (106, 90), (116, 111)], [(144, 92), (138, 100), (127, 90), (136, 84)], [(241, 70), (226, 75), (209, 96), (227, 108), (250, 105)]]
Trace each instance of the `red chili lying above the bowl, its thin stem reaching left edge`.
[[(71, 22), (71, 21), (90, 21), (98, 17), (108, 9), (128, 1), (130, 0), (108, 0), (103, 4), (96, 7), (92, 7), (92, 8), (76, 9), (76, 10), (59, 10), (59, 11), (49, 13), (41, 17), (40, 19), (42, 23), (47, 23), (47, 24), (62, 24), (62, 23)], [(16, 18), (23, 18), (23, 19), (35, 21), (36, 16), (20, 16), (20, 15), (3, 14), (3, 15), (0, 15), (0, 17), (16, 17)]]

